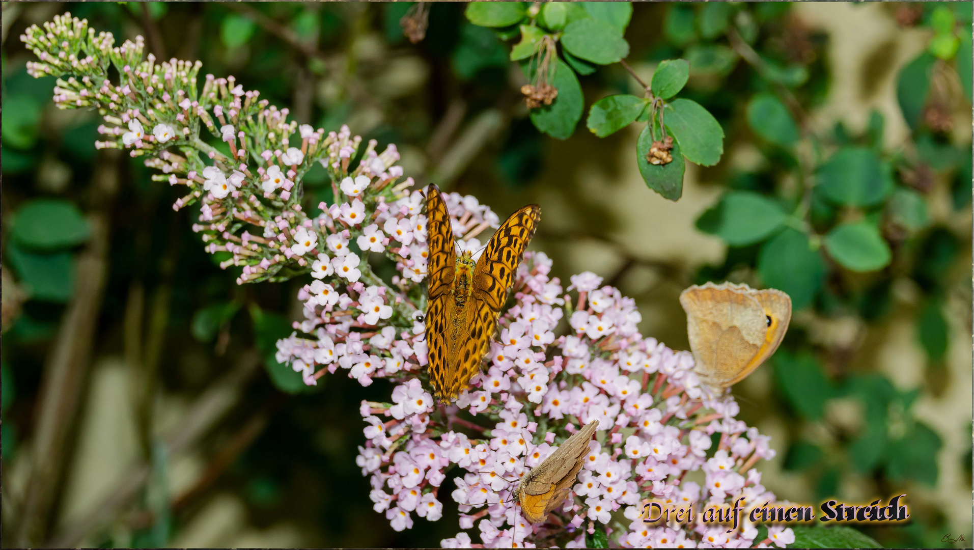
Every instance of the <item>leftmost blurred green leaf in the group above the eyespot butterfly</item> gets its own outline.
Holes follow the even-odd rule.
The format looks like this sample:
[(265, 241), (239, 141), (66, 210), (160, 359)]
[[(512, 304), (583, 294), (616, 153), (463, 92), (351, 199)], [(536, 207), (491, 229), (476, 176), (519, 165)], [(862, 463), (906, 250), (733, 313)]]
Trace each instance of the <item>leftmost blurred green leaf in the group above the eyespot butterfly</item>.
[(718, 217), (711, 231), (731, 246), (768, 238), (786, 217), (776, 202), (752, 191), (731, 191), (717, 204), (716, 210)]

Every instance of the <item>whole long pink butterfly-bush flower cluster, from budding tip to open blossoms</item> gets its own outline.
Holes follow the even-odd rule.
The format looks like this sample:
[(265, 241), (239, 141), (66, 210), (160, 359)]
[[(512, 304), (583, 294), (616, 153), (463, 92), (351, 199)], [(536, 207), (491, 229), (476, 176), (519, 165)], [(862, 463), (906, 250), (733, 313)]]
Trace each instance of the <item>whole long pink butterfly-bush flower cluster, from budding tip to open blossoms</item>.
[[(87, 25), (65, 14), (43, 29), (29, 27), (21, 40), (40, 58), (30, 74), (74, 75), (58, 80), (55, 100), (102, 110), (108, 126), (99, 131), (109, 138), (97, 147), (145, 156), (162, 171), (154, 179), (186, 185), (189, 194), (173, 206), (201, 202), (195, 229), (207, 251), (232, 256), (223, 267), (243, 268), (239, 282), (312, 275), (298, 296), (305, 320), (294, 323), (277, 353), (306, 384), (339, 369), (361, 385), (377, 377), (396, 383), (390, 402), (361, 404), (365, 442), (356, 458), (376, 512), (393, 529), (412, 528), (414, 515), (439, 520), (439, 490), (449, 475), (462, 532), (442, 540), (445, 547), (577, 547), (596, 530), (626, 547), (755, 545), (753, 527), (728, 533), (640, 518), (651, 498), (701, 510), (740, 496), (773, 501), (752, 466), (774, 451), (735, 419), (730, 396), (701, 391), (690, 353), (639, 334), (633, 300), (591, 273), (572, 276), (564, 289), (543, 253), (527, 253), (513, 284), (515, 305), (500, 316), (483, 371), (455, 403), (436, 405), (423, 368), (424, 196), (408, 190), (412, 178), (399, 181), (395, 147), (378, 153), (372, 140), (359, 155), (361, 138), (349, 128), (325, 136), (299, 127), (286, 109), (233, 77), (206, 75), (198, 92), (199, 61), (143, 60), (141, 37), (115, 47), (110, 33), (95, 35)], [(229, 156), (199, 139), (201, 125), (227, 144)], [(312, 217), (300, 191), (315, 163), (328, 172), (335, 203), (319, 203)], [(444, 197), (458, 246), (478, 249), (476, 237), (498, 227), (497, 215), (473, 197)], [(370, 254), (395, 263), (392, 284), (373, 273)], [(544, 522), (529, 524), (511, 498), (518, 480), (595, 421), (600, 429), (571, 495)], [(771, 527), (756, 546), (792, 541), (790, 529)]]

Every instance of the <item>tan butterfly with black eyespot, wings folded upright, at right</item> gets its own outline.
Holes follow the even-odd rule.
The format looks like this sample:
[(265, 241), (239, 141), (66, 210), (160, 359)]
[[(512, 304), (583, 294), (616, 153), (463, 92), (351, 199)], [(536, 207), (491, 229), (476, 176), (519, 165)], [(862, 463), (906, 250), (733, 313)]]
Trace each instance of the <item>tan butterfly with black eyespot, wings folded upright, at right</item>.
[(774, 288), (724, 282), (680, 294), (700, 382), (713, 393), (737, 384), (778, 348), (791, 320), (791, 298)]

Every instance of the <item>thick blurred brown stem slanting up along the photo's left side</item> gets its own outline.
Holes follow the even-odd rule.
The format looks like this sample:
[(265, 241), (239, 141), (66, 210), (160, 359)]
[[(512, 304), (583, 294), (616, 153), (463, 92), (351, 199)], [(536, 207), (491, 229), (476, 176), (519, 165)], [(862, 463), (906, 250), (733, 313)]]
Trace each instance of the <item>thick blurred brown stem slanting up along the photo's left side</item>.
[(33, 462), (23, 497), (17, 546), (36, 546), (47, 532), (65, 444), (77, 419), (108, 277), (111, 225), (108, 206), (118, 191), (119, 158), (118, 151), (103, 150), (94, 167), (89, 218), (92, 236), (78, 255), (74, 298), (61, 318), (55, 344), (44, 366), (37, 400)]

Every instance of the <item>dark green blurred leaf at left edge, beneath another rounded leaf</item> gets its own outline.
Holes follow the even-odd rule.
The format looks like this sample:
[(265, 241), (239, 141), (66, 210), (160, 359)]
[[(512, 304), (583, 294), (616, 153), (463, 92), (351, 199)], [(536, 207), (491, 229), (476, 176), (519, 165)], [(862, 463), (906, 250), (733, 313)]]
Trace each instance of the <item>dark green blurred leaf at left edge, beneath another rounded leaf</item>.
[(7, 241), (4, 262), (19, 275), (19, 282), (34, 300), (65, 303), (74, 295), (74, 258), (70, 252), (37, 253), (21, 248), (16, 238)]

